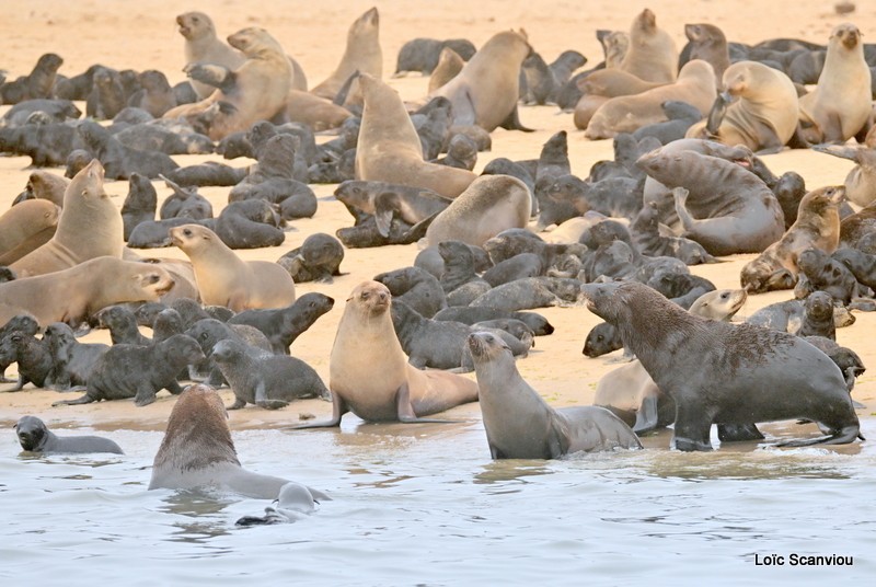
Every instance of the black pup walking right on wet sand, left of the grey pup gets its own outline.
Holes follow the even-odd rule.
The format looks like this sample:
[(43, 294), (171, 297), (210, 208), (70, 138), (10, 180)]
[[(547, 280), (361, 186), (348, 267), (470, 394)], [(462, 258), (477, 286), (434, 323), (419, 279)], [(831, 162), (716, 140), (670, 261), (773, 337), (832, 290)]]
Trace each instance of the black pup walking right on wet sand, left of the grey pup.
[(149, 405), (155, 393), (166, 389), (178, 394), (176, 375), (186, 366), (204, 360), (197, 341), (174, 334), (153, 345), (113, 345), (94, 362), (84, 395), (51, 405), (78, 405), (101, 400), (134, 398), (134, 405)]

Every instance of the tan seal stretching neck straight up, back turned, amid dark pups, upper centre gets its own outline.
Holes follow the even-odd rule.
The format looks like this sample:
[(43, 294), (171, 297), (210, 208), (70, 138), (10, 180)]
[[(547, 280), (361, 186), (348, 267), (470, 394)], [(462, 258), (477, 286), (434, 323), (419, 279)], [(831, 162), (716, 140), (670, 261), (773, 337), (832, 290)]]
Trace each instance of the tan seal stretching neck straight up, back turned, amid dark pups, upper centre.
[(459, 196), (477, 175), (423, 160), (423, 146), (399, 93), (371, 76), (360, 78), (365, 108), (356, 148), (356, 179), (426, 187)]

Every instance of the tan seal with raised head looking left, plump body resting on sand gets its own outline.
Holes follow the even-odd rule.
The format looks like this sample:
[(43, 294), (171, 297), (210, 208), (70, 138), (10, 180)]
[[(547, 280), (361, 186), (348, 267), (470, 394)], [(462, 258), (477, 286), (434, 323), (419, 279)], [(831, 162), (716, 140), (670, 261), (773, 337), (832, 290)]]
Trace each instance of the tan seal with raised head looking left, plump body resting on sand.
[(200, 225), (172, 228), (169, 234), (192, 261), (205, 304), (241, 312), (285, 308), (295, 301), (295, 283), (276, 263), (241, 260), (214, 231)]

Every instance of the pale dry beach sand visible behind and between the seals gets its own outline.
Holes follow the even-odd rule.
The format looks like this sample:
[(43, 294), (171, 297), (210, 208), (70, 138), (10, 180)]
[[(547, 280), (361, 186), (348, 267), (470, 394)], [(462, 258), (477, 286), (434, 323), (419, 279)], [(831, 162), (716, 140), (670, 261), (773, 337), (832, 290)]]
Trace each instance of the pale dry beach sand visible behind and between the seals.
[[(876, 31), (876, 7), (858, 2), (858, 12), (850, 18), (833, 14), (831, 1), (826, 0), (654, 0), (648, 7), (657, 14), (660, 26), (683, 45), (683, 24), (711, 22), (719, 25), (731, 41), (747, 43), (779, 36), (802, 37), (825, 43), (831, 28), (844, 20), (852, 20), (869, 39)], [(370, 8), (370, 2), (341, 0), (333, 2), (304, 1), (221, 1), (170, 2), (153, 0), (143, 3), (124, 1), (79, 0), (77, 2), (21, 0), (3, 1), (0, 20), (0, 67), (10, 77), (24, 74), (43, 53), (61, 55), (65, 64), (61, 73), (76, 74), (89, 66), (101, 62), (114, 68), (136, 70), (160, 69), (172, 83), (183, 74), (183, 41), (177, 34), (174, 16), (183, 11), (204, 10), (216, 21), (220, 35), (239, 28), (261, 25), (274, 34), (307, 71), (311, 85), (327, 76), (339, 59), (349, 23)], [(384, 78), (395, 69), (395, 56), (402, 44), (418, 36), (436, 38), (466, 37), (475, 45), (483, 44), (497, 31), (525, 27), (529, 38), (545, 59), (552, 60), (562, 50), (574, 48), (590, 59), (600, 60), (600, 49), (595, 38), (597, 28), (627, 30), (633, 16), (644, 4), (619, 4), (607, 0), (583, 3), (557, 0), (481, 0), (480, 2), (410, 2), (384, 1), (378, 4), (381, 18)], [(393, 79), (390, 83), (406, 100), (416, 100), (426, 92), (427, 78), (419, 76)], [(84, 107), (82, 108), (84, 110)], [(574, 130), (570, 114), (560, 114), (554, 106), (523, 107), (525, 125), (537, 128), (532, 134), (498, 129), (493, 134), (493, 150), (481, 153), (477, 169), (491, 159), (507, 157), (529, 159), (538, 157), (544, 141), (561, 129), (569, 131), (569, 157), (573, 173), (586, 175), (592, 163), (611, 158), (610, 141), (588, 141)], [(181, 164), (200, 162), (208, 157), (186, 156), (175, 158)], [(810, 187), (841, 183), (851, 163), (811, 151), (786, 151), (765, 158), (775, 173), (795, 170), (802, 173)], [(27, 158), (0, 158), (0, 209), (24, 187), (31, 170)], [(250, 161), (232, 161), (246, 165)], [(155, 183), (159, 198), (170, 191)], [(321, 198), (331, 196), (334, 186), (313, 186)], [(108, 193), (116, 197), (119, 207), (127, 194), (127, 182), (110, 182)], [(218, 212), (226, 203), (228, 188), (204, 188)], [(286, 242), (278, 248), (239, 252), (244, 258), (275, 261), (285, 252), (298, 246), (314, 232), (334, 233), (350, 226), (351, 218), (334, 200), (320, 202), (312, 219), (293, 223)], [(154, 251), (158, 255), (183, 257), (175, 249)], [(327, 381), (328, 354), (341, 318), (344, 300), (361, 280), (376, 274), (413, 264), (417, 254), (415, 245), (384, 246), (380, 249), (348, 250), (342, 264), (346, 275), (334, 284), (301, 284), (298, 291), (322, 291), (335, 299), (335, 308), (324, 315), (293, 345), (293, 355), (312, 365)], [(728, 258), (725, 263), (700, 266), (693, 271), (712, 279), (719, 288), (738, 287), (739, 269), (751, 256)], [(740, 315), (775, 301), (792, 297), (789, 291), (753, 297)], [(549, 308), (541, 310), (556, 326), (551, 336), (539, 337), (537, 347), (526, 359), (518, 361), (523, 377), (554, 405), (589, 404), (599, 378), (613, 369), (606, 358), (589, 359), (581, 355), (587, 332), (598, 323), (585, 308)], [(869, 338), (876, 325), (876, 315), (857, 314), (857, 323), (838, 332), (840, 344), (852, 347), (864, 362), (876, 369), (876, 344)], [(148, 334), (148, 330), (146, 331)], [(108, 342), (105, 331), (89, 334), (84, 342)], [(610, 357), (616, 357), (615, 353)], [(867, 408), (860, 413), (872, 417), (876, 408), (876, 376), (865, 373), (858, 380), (854, 395)], [(8, 370), (14, 375), (14, 366)], [(4, 385), (9, 389), (12, 385)], [(231, 393), (222, 392), (228, 403)], [(166, 392), (149, 406), (138, 408), (130, 401), (102, 402), (82, 406), (50, 407), (60, 398), (56, 392), (26, 389), (21, 393), (0, 393), (0, 422), (11, 424), (25, 414), (39, 415), (55, 425), (93, 426), (97, 428), (163, 429), (174, 400)], [(306, 401), (285, 410), (268, 412), (247, 407), (232, 412), (233, 428), (283, 426), (298, 421), (300, 412), (320, 417), (331, 413), (331, 405), (320, 401)], [(457, 408), (457, 416), (477, 417), (476, 404)], [(348, 416), (349, 417), (349, 416)]]

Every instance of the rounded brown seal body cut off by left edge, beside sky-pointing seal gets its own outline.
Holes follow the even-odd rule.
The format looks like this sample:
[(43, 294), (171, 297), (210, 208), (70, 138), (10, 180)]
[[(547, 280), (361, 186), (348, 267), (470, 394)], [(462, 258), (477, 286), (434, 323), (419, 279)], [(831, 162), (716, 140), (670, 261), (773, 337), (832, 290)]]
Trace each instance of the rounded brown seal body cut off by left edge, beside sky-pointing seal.
[(46, 244), (55, 234), (60, 208), (47, 199), (27, 199), (0, 216), (0, 265), (10, 265)]

